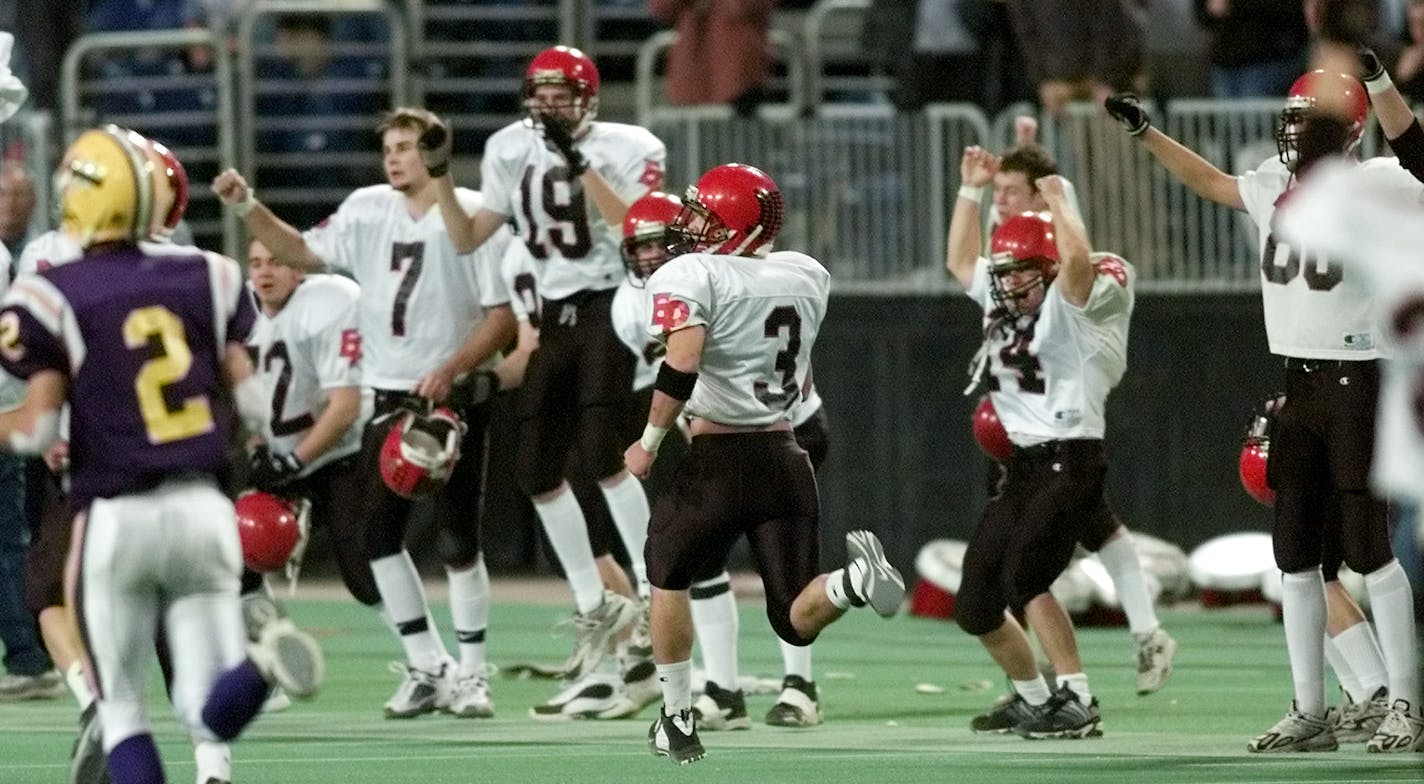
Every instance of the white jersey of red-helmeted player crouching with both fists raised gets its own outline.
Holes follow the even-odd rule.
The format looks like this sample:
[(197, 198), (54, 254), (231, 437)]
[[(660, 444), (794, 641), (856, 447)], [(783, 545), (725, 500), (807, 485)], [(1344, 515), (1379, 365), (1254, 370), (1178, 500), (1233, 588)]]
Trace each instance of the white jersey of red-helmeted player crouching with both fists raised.
[[(1094, 253), (1098, 267), (1082, 307), (1048, 286), (1037, 317), (1027, 327), (995, 330), (988, 339), (990, 397), (1020, 447), (1065, 438), (1102, 438), (1108, 393), (1128, 369), (1128, 324), (1136, 270), (1114, 253)], [(974, 265), (965, 292), (985, 313), (994, 309), (988, 259)]]

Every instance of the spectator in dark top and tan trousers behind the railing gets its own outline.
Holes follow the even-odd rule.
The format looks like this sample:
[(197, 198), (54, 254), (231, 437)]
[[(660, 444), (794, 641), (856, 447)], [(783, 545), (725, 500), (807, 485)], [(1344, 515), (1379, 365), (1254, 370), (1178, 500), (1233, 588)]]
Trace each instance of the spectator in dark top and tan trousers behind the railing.
[(1135, 0), (1007, 0), (1022, 65), (1044, 111), (1118, 90), (1143, 92), (1142, 20)]

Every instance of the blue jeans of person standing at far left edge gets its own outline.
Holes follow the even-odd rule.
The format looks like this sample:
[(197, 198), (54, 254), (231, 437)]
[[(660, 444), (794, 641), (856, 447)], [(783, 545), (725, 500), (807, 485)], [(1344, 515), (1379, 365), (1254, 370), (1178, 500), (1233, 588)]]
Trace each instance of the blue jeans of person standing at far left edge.
[(24, 551), (28, 545), (24, 461), (0, 452), (0, 642), (4, 643), (6, 670), (33, 676), (53, 664), (24, 603)]

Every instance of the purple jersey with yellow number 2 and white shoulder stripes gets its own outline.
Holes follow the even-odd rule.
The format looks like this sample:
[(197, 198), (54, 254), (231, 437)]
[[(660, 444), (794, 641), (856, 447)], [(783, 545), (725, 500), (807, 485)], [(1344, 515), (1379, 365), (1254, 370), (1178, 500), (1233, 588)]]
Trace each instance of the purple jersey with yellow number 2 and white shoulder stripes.
[(17, 285), (7, 299), (0, 317), (19, 319), (21, 350), (0, 363), (70, 380), (77, 502), (226, 471), (234, 411), (221, 361), (255, 313), (222, 266), (232, 262), (218, 259), (122, 248), (46, 270), (53, 289)]

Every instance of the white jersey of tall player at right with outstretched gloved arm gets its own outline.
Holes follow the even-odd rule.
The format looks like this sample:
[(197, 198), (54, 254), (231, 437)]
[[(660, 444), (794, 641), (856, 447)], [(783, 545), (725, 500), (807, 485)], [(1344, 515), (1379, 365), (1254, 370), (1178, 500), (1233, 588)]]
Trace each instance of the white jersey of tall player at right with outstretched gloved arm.
[[(1358, 164), (1376, 186), (1401, 195), (1418, 184), (1394, 158)], [(1324, 360), (1370, 360), (1380, 356), (1374, 303), (1361, 280), (1339, 259), (1309, 245), (1279, 240), (1272, 228), (1276, 202), (1290, 185), (1290, 171), (1277, 158), (1236, 178), (1242, 203), (1259, 231), (1260, 296), (1270, 353)]]

